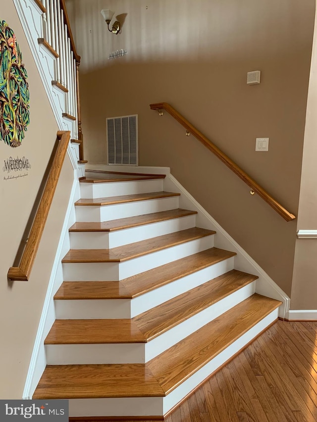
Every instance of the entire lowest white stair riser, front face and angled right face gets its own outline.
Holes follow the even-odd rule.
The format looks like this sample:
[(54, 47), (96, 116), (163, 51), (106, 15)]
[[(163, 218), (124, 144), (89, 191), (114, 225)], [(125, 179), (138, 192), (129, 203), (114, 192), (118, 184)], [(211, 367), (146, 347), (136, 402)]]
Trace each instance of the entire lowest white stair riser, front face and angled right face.
[(135, 416), (140, 417), (140, 419), (150, 415), (164, 416), (204, 380), (210, 378), (218, 368), (274, 323), (277, 318), (278, 309), (275, 309), (165, 397), (70, 399), (69, 416), (82, 417), (85, 415), (87, 418)]

